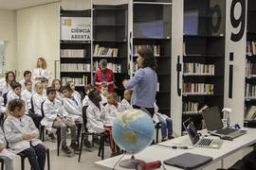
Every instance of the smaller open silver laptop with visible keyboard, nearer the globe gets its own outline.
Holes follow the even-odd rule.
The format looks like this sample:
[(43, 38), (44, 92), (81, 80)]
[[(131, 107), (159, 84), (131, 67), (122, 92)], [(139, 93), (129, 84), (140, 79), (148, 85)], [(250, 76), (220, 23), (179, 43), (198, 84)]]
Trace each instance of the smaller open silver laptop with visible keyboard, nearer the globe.
[(220, 148), (223, 143), (220, 139), (210, 139), (206, 137), (200, 138), (200, 135), (197, 133), (196, 127), (191, 119), (186, 120), (183, 123), (183, 127), (187, 130), (192, 141), (192, 145), (195, 147)]

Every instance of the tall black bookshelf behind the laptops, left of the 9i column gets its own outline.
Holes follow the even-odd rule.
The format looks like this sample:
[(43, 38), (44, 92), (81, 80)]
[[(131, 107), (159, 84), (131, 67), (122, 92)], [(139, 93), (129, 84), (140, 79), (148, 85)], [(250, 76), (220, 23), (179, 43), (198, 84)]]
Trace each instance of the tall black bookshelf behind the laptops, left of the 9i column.
[(203, 109), (224, 105), (225, 26), (214, 31), (211, 22), (225, 16), (212, 8), (209, 0), (184, 1), (182, 122), (191, 118), (197, 129)]

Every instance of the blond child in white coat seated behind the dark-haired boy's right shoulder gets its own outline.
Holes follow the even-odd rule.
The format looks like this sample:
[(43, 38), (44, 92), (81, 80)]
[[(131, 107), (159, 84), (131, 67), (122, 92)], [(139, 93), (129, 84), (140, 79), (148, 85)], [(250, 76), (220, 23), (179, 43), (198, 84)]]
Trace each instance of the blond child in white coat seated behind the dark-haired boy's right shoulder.
[[(42, 111), (41, 111), (41, 104), (44, 101), (43, 97), (43, 84), (41, 82), (37, 82), (35, 84), (35, 93), (32, 95), (32, 105), (34, 107), (34, 114), (31, 114), (31, 117), (35, 123), (35, 126), (39, 128), (40, 122), (43, 119)], [(50, 140), (54, 142), (56, 139), (55, 137), (51, 137)]]

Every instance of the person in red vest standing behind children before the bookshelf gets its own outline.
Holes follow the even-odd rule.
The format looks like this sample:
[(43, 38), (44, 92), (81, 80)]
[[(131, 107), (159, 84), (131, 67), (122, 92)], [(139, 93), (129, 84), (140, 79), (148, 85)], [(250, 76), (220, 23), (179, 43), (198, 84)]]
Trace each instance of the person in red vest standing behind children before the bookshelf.
[(106, 83), (108, 86), (108, 92), (114, 91), (114, 84), (116, 78), (113, 74), (113, 71), (107, 68), (107, 60), (100, 60), (100, 69), (96, 71), (94, 76), (94, 84), (97, 91), (101, 91), (101, 84)]

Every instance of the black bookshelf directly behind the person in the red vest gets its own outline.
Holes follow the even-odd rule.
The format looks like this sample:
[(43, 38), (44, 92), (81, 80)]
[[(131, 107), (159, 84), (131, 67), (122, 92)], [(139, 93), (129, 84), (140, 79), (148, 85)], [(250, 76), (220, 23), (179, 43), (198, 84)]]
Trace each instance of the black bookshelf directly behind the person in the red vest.
[[(128, 77), (128, 5), (94, 5), (92, 71), (107, 59), (107, 68), (116, 77), (115, 91), (123, 96), (122, 80)], [(94, 75), (94, 74), (93, 74)]]

